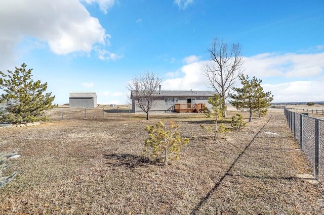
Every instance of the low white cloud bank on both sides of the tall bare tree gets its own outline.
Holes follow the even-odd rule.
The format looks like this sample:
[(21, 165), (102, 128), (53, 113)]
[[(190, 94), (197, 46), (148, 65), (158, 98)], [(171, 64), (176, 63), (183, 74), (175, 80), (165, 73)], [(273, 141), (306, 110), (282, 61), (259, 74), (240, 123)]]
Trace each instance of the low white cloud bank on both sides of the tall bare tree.
[[(205, 63), (210, 62), (200, 61), (188, 64), (175, 72), (167, 73), (170, 78), (163, 81), (163, 89), (208, 89), (206, 85), (208, 81), (201, 72), (201, 67)], [(300, 55), (263, 53), (246, 57), (244, 67), (245, 74), (263, 79), (262, 86), (266, 91), (272, 92), (274, 102), (324, 101), (324, 94), (318, 91), (324, 83), (324, 52)], [(273, 82), (273, 77), (276, 78), (276, 83), (268, 84), (270, 81)], [(304, 81), (306, 77), (307, 81)]]

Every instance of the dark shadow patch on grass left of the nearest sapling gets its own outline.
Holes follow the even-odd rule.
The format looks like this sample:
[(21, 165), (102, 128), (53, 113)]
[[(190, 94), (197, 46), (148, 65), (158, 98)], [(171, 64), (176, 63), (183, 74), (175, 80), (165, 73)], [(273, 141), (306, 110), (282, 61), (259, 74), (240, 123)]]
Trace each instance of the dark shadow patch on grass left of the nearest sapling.
[(139, 156), (135, 154), (103, 154), (103, 158), (107, 159), (106, 164), (111, 167), (127, 167), (130, 169), (136, 167), (147, 167), (149, 165), (158, 165), (155, 160), (151, 160), (148, 157)]

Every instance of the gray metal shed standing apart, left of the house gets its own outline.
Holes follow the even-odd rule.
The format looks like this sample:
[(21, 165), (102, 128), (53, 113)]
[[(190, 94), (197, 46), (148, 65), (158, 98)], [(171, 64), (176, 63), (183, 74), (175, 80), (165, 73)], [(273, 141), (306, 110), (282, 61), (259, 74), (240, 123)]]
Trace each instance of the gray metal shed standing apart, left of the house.
[(95, 92), (70, 92), (70, 108), (97, 108)]

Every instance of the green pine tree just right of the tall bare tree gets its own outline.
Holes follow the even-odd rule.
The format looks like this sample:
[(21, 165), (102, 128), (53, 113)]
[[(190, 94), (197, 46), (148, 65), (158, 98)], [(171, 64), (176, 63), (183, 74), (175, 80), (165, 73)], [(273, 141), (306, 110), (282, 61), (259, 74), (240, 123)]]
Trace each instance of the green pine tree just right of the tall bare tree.
[(261, 86), (262, 80), (253, 77), (249, 80), (249, 76), (240, 75), (242, 87), (233, 87), (234, 93), (230, 94), (231, 105), (236, 109), (248, 109), (250, 113), (249, 122), (252, 121), (252, 114), (259, 112), (266, 113), (265, 110), (270, 106), (273, 100), (271, 92), (264, 92)]

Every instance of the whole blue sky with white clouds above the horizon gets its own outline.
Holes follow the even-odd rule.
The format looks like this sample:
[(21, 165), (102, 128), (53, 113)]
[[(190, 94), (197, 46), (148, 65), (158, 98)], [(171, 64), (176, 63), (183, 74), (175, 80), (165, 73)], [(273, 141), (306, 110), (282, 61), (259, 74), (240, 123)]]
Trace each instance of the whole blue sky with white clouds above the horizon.
[(0, 70), (26, 63), (59, 104), (70, 91), (126, 103), (146, 71), (164, 90), (204, 90), (217, 36), (240, 43), (245, 73), (274, 101), (323, 101), (323, 1), (12, 0), (0, 2)]

